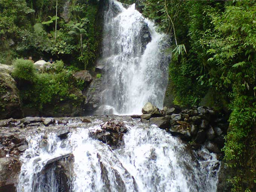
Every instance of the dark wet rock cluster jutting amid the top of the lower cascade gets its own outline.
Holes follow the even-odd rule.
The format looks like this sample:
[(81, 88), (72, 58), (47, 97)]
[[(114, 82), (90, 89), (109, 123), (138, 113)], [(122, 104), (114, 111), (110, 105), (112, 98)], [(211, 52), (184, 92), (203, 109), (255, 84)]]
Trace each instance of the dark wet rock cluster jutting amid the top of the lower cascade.
[(94, 136), (111, 147), (117, 147), (122, 145), (123, 136), (126, 132), (127, 128), (124, 123), (114, 120), (102, 124), (100, 129), (91, 132), (91, 136)]

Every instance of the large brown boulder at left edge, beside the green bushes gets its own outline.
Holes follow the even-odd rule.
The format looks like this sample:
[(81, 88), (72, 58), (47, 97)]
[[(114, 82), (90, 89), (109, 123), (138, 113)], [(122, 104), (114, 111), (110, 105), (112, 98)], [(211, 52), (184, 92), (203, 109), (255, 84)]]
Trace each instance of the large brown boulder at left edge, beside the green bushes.
[(20, 93), (11, 73), (13, 66), (0, 64), (0, 119), (22, 118)]

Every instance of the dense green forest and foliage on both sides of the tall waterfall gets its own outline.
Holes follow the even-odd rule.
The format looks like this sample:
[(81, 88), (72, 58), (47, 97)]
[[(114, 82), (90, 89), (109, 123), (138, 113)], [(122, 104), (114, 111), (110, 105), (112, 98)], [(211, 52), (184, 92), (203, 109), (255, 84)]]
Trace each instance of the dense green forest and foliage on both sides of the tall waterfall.
[[(172, 46), (166, 49), (166, 54), (172, 54), (167, 102), (183, 108), (206, 105), (229, 115), (222, 150), (226, 166), (235, 171), (229, 180), (232, 191), (255, 190), (256, 2), (122, 2), (136, 3), (159, 31), (172, 38)], [(20, 66), (13, 76), (20, 79), (24, 104), (42, 109), (52, 100), (77, 100), (69, 90), (71, 74), (96, 66), (102, 38), (100, 9), (96, 0), (0, 1), (0, 63)], [(26, 61), (16, 60), (28, 56), (59, 61), (50, 73), (38, 74)], [(0, 85), (0, 92), (3, 89)]]

